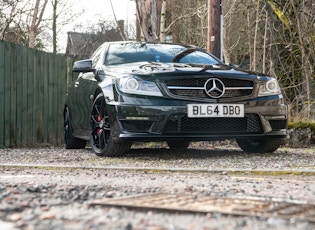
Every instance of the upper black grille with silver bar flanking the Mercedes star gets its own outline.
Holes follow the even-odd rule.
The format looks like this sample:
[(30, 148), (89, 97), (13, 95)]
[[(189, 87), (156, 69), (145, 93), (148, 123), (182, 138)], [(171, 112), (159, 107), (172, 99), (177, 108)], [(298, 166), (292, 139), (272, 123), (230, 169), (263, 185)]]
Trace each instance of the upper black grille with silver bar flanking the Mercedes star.
[[(209, 98), (205, 93), (204, 85), (209, 78), (181, 78), (166, 80), (170, 93), (176, 96)], [(245, 97), (253, 93), (252, 80), (219, 78), (225, 86), (225, 94), (221, 98)]]

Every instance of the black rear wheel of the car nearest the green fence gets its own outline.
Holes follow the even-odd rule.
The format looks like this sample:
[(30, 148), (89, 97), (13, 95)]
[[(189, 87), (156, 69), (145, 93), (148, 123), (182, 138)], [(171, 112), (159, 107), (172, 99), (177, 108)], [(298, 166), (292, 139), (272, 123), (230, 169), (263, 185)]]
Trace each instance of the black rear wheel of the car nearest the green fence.
[(66, 107), (64, 112), (64, 146), (66, 149), (83, 149), (85, 148), (86, 141), (80, 138), (76, 138), (72, 135), (73, 128), (70, 120), (70, 111), (69, 108)]

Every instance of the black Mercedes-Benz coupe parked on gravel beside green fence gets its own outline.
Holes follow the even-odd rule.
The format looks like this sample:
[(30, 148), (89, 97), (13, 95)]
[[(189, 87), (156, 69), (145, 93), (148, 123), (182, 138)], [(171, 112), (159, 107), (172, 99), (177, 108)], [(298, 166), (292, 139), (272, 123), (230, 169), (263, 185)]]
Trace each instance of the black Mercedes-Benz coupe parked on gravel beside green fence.
[(277, 80), (222, 63), (187, 45), (106, 42), (77, 61), (64, 108), (65, 147), (90, 141), (98, 156), (121, 156), (133, 141), (235, 139), (245, 152), (273, 152), (287, 136)]

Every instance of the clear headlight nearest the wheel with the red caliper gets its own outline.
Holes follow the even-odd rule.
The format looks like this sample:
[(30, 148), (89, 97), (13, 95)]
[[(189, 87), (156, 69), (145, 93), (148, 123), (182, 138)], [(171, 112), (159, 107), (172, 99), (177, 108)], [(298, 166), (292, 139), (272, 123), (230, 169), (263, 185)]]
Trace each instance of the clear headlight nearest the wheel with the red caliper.
[(126, 76), (118, 79), (118, 89), (124, 93), (159, 96), (162, 97), (160, 89), (154, 82), (145, 81), (135, 76)]

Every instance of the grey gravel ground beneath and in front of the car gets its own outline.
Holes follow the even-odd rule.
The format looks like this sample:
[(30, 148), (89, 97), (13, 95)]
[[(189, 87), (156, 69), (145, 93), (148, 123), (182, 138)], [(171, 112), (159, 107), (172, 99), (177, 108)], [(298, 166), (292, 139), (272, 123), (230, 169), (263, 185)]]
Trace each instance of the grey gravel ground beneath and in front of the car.
[(263, 197), (315, 204), (315, 149), (246, 154), (233, 143), (134, 145), (125, 157), (91, 149), (0, 149), (0, 229), (314, 229), (296, 218), (90, 205), (143, 194)]

